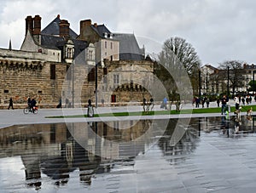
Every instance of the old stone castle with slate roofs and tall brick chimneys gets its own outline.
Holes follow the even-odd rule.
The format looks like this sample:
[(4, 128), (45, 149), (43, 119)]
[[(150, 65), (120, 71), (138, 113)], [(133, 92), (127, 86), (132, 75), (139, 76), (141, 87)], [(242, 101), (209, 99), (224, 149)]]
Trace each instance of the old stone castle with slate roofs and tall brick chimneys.
[(57, 15), (41, 30), (39, 15), (26, 17), (20, 50), (0, 48), (0, 108), (13, 98), (16, 108), (35, 98), (44, 108), (69, 101), (84, 106), (142, 101), (154, 81), (154, 63), (145, 59), (134, 34), (113, 33), (105, 25), (80, 21), (79, 35)]

